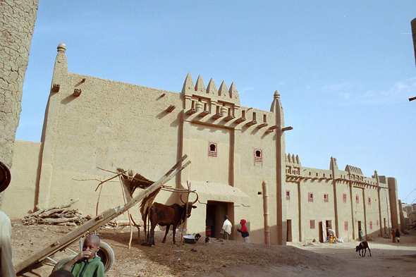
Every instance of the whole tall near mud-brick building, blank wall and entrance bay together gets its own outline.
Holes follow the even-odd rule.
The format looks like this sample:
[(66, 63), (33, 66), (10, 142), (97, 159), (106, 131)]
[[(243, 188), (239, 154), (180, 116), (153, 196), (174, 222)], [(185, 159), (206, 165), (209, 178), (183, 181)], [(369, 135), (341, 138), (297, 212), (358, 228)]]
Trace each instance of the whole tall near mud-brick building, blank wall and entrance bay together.
[[(216, 215), (217, 226), (222, 225), (222, 216), (227, 213), (233, 223), (231, 238), (240, 238), (236, 229), (245, 218), (252, 241), (263, 243), (262, 183), (266, 180), (270, 241), (281, 243), (284, 237), (286, 242), (281, 230), (286, 207), (279, 207), (276, 200), (284, 188), (284, 175), (276, 178), (279, 168), (284, 168), (278, 166), (281, 151), (276, 151), (278, 145), (284, 147), (280, 131), (283, 110), (277, 92), (272, 109), (279, 116), (273, 111), (240, 106), (235, 85), (228, 88), (225, 82), (217, 89), (213, 80), (205, 87), (198, 78), (194, 85), (188, 75), (183, 91), (178, 93), (70, 73), (65, 52), (65, 44), (59, 44), (42, 147), (36, 159), (39, 171), (36, 180), (30, 180), (36, 187), (35, 195), (26, 195), (28, 207), (13, 217), (23, 217), (36, 205), (49, 207), (73, 198), (80, 199), (73, 204), (75, 209), (94, 215), (98, 198), (98, 212), (123, 204), (117, 180), (104, 183), (102, 190), (96, 191), (99, 180), (111, 176), (99, 168), (132, 169), (158, 180), (188, 154), (190, 166), (167, 183), (185, 187), (190, 181), (200, 195), (188, 221), (188, 232), (204, 233), (207, 205), (216, 203), (224, 208)], [(216, 145), (216, 156), (209, 154), (211, 143)], [(24, 151), (23, 145), (20, 147)], [(257, 152), (261, 155), (256, 156)], [(16, 188), (25, 187), (20, 176), (12, 182)], [(161, 192), (156, 201), (172, 204), (179, 202), (178, 197)], [(132, 212), (139, 218), (138, 207)]]

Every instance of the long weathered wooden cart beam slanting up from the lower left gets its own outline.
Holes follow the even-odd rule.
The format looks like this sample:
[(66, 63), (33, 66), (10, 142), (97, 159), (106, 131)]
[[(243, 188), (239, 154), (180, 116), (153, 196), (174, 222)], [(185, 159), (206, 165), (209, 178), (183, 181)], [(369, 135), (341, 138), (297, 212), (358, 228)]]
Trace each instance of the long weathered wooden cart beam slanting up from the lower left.
[[(142, 190), (135, 198), (131, 199), (128, 203), (104, 211), (102, 214), (95, 216), (90, 221), (87, 221), (80, 227), (75, 228), (70, 233), (59, 238), (59, 240), (56, 240), (51, 244), (47, 245), (47, 247), (44, 247), (44, 249), (36, 252), (35, 254), (32, 254), (32, 256), (28, 257), (25, 260), (20, 261), (20, 263), (15, 266), (16, 273), (23, 271), (23, 269), (26, 269), (32, 264), (36, 264), (37, 262), (49, 258), (49, 256), (56, 252), (65, 250), (66, 247), (73, 244), (73, 242), (75, 242), (76, 240), (82, 238), (83, 235), (94, 232), (94, 230), (97, 230), (98, 228), (104, 226), (104, 224), (108, 223), (112, 219), (116, 218), (117, 216), (120, 216), (121, 214), (124, 214), (126, 211), (128, 211), (128, 209), (135, 206), (135, 204), (137, 204), (142, 199), (144, 199), (152, 192), (157, 190), (159, 187), (167, 183), (174, 176), (176, 176), (176, 174), (181, 172), (183, 168), (188, 166), (190, 164), (190, 161), (186, 162), (183, 166), (181, 166), (182, 162), (185, 161), (186, 158), (188, 158), (188, 156), (185, 154), (164, 176), (162, 176), (159, 180), (147, 187), (145, 190)], [(106, 249), (107, 247), (103, 248), (104, 255), (106, 256), (106, 258), (111, 259), (111, 257), (109, 257), (112, 253), (111, 247), (109, 250)], [(111, 266), (111, 264), (112, 261), (109, 265)], [(109, 268), (107, 268), (107, 270), (108, 269)]]

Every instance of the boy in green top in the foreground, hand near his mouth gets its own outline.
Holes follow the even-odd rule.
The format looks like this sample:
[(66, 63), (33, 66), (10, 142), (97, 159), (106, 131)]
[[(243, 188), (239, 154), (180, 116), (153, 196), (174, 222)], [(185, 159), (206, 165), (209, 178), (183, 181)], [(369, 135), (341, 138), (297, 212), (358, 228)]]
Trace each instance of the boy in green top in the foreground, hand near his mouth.
[(104, 264), (95, 257), (99, 250), (99, 237), (89, 235), (84, 241), (82, 252), (65, 264), (62, 269), (70, 271), (75, 277), (104, 277)]

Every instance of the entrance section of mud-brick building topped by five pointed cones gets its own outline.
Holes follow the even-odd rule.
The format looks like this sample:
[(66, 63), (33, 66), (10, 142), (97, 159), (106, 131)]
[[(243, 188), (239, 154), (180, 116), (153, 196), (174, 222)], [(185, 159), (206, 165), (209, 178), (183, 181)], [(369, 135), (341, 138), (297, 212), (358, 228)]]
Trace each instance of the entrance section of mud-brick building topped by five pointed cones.
[[(235, 85), (228, 88), (222, 82), (219, 89), (213, 80), (207, 87), (201, 77), (195, 85), (187, 76), (182, 95), (183, 144), (182, 154), (188, 154), (191, 166), (181, 173), (182, 182), (191, 180), (200, 195), (200, 204), (192, 211), (188, 223), (190, 233), (204, 233), (205, 211), (209, 202), (226, 202), (228, 217), (233, 223), (231, 239), (240, 239), (236, 229), (244, 218), (250, 228), (252, 242), (264, 242), (264, 210), (262, 183), (269, 183), (269, 226), (271, 243), (281, 243), (281, 208), (276, 202), (277, 184), (276, 140), (280, 140), (271, 126), (283, 125), (276, 113), (240, 106)], [(276, 96), (275, 96), (276, 98)], [(274, 101), (275, 105), (279, 105)], [(280, 111), (279, 111), (280, 112)], [(282, 118), (283, 120), (283, 118)], [(279, 121), (279, 124), (277, 123)], [(280, 132), (279, 132), (280, 134)], [(209, 156), (209, 144), (218, 149)], [(262, 161), (255, 160), (255, 152), (262, 152)], [(280, 160), (281, 161), (281, 160)], [(283, 160), (284, 161), (284, 160)], [(231, 189), (232, 188), (232, 189)], [(199, 205), (201, 206), (201, 205)], [(220, 230), (224, 214), (216, 219)]]

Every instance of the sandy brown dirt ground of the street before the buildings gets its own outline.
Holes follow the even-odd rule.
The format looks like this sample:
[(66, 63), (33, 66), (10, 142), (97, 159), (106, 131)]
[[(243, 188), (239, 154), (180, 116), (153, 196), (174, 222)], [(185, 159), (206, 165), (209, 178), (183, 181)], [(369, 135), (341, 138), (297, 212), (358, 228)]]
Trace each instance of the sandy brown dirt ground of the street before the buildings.
[[(13, 263), (17, 264), (70, 231), (63, 226), (23, 226), (13, 222)], [(314, 243), (287, 246), (255, 245), (211, 239), (205, 243), (173, 245), (171, 235), (161, 243), (156, 233), (154, 247), (142, 246), (130, 228), (101, 228), (102, 240), (114, 250), (115, 261), (108, 277), (123, 276), (416, 276), (416, 235), (403, 235), (400, 245), (386, 238), (369, 242), (372, 257), (355, 252), (358, 242)], [(143, 235), (142, 235), (143, 237)], [(177, 239), (179, 240), (179, 238)], [(79, 251), (79, 244), (70, 247)], [(58, 252), (58, 261), (71, 252)], [(19, 276), (47, 277), (54, 264), (45, 260)]]

